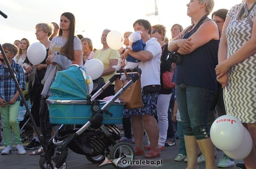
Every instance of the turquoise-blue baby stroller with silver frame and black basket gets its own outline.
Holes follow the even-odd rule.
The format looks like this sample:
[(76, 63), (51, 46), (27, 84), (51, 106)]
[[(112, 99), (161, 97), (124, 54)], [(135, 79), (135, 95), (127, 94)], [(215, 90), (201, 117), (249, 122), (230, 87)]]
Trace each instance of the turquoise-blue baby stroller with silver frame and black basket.
[[(120, 78), (120, 74), (112, 76), (93, 96), (88, 93), (88, 77), (86, 70), (81, 66), (71, 65), (67, 70), (56, 74), (50, 87), (53, 95), (47, 100), (50, 123), (62, 124), (47, 144), (47, 152), (55, 168), (67, 167), (68, 148), (77, 154), (85, 155), (93, 163), (102, 163), (109, 155), (110, 160), (116, 160), (115, 164), (112, 164), (114, 167), (130, 166), (130, 163), (118, 162), (133, 161), (135, 155), (129, 144), (116, 142), (120, 139), (120, 131), (114, 124), (122, 123), (126, 104), (125, 101), (116, 100), (140, 78), (141, 70), (135, 68), (131, 73), (134, 74), (133, 78), (109, 101), (95, 98)], [(83, 126), (74, 130), (74, 125)], [(44, 153), (40, 157), (39, 165), (42, 169), (50, 168)]]

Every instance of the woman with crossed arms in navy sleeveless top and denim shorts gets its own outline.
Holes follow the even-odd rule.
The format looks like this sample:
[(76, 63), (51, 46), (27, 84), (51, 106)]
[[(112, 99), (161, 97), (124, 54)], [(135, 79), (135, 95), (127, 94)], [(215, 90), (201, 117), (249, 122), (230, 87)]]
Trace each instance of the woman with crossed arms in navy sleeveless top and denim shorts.
[(182, 39), (170, 41), (168, 46), (180, 59), (173, 82), (176, 83), (189, 169), (198, 168), (197, 146), (204, 155), (206, 168), (215, 168), (214, 146), (207, 126), (211, 99), (217, 88), (214, 68), (218, 63), (220, 41), (218, 26), (207, 17), (213, 6), (213, 0), (190, 0), (187, 15), (194, 20), (194, 25), (180, 33)]

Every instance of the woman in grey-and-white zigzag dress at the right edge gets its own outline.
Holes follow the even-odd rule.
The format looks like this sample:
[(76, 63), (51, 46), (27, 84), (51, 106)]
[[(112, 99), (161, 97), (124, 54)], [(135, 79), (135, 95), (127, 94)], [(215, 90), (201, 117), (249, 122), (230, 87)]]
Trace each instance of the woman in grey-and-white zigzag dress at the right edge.
[(253, 138), (250, 154), (243, 159), (247, 169), (256, 166), (255, 63), (256, 0), (232, 7), (223, 26), (219, 64), (215, 71), (222, 85), (228, 115), (237, 117)]

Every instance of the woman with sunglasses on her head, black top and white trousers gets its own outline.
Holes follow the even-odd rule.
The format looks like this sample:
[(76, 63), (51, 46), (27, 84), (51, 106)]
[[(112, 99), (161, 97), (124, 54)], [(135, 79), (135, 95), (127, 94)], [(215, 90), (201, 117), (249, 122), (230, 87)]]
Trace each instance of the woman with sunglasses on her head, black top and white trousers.
[[(150, 37), (154, 37), (157, 39), (157, 42), (161, 45), (162, 48), (162, 56), (160, 62), (160, 84), (161, 90), (158, 93), (157, 97), (157, 105), (156, 105), (156, 114), (159, 126), (159, 139), (158, 145), (160, 150), (164, 150), (164, 144), (167, 136), (168, 129), (168, 108), (171, 99), (172, 89), (164, 89), (163, 88), (163, 73), (165, 71), (171, 71), (172, 63), (166, 60), (166, 55), (168, 54), (168, 44), (164, 42), (164, 37), (166, 33), (166, 28), (164, 25), (153, 25), (151, 30)], [(171, 81), (171, 79), (170, 79)], [(174, 142), (174, 132), (173, 132), (173, 140)], [(144, 147), (145, 150), (150, 149), (150, 142), (148, 140), (148, 145)]]

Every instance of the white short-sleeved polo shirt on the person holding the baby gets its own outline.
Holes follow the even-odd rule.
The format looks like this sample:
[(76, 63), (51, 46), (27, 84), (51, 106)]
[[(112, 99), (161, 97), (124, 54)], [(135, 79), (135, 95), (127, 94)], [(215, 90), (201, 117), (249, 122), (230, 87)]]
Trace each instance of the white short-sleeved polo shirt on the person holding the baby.
[(161, 45), (156, 38), (150, 38), (146, 43), (144, 51), (152, 53), (153, 58), (150, 61), (140, 61), (138, 68), (142, 70), (141, 73), (141, 87), (148, 85), (160, 85), (160, 58)]

